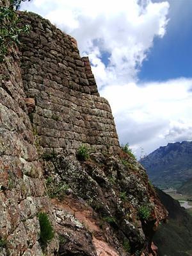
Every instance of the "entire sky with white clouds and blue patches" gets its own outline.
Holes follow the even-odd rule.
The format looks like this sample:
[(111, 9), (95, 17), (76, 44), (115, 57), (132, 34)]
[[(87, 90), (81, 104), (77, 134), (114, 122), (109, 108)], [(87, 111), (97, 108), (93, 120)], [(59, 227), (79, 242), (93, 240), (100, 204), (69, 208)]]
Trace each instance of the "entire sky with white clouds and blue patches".
[(192, 141), (191, 0), (31, 0), (21, 10), (76, 38), (136, 157)]

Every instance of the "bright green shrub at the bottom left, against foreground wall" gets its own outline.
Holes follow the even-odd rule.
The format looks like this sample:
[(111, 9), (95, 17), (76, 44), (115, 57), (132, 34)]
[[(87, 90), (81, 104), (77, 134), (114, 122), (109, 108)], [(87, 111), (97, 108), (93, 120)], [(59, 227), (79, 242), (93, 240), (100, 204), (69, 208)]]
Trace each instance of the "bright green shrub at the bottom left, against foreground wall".
[(53, 239), (54, 230), (45, 212), (40, 212), (38, 214), (38, 220), (40, 223), (40, 244), (42, 248), (45, 248), (45, 246), (47, 246), (47, 243), (49, 243)]

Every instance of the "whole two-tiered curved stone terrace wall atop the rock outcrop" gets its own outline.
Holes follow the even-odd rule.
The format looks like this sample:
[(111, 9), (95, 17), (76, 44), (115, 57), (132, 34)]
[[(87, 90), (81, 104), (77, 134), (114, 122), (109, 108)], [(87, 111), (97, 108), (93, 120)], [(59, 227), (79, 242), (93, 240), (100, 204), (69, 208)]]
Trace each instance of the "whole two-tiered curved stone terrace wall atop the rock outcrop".
[(21, 68), (38, 143), (45, 151), (76, 151), (80, 144), (115, 153), (118, 136), (108, 101), (99, 97), (88, 57), (76, 40), (35, 13), (20, 13), (31, 24), (21, 38)]

